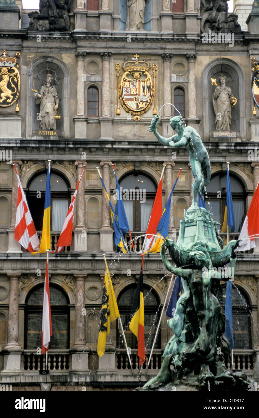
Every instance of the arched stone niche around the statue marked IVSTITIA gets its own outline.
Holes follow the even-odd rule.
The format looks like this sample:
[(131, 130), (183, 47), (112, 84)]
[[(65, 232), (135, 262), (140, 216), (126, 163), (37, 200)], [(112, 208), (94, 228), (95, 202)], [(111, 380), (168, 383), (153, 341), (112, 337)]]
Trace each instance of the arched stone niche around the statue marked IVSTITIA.
[[(41, 56), (32, 61), (33, 79), (38, 92), (44, 84), (46, 74), (51, 74), (53, 84), (59, 96), (58, 111), (61, 119), (56, 121), (56, 129), (60, 135), (69, 138), (69, 71), (64, 62), (55, 56)], [(36, 104), (32, 92), (33, 87), (31, 64), (26, 71), (26, 137), (38, 135), (40, 130), (37, 113), (40, 105)], [(33, 136), (34, 136), (33, 135)]]

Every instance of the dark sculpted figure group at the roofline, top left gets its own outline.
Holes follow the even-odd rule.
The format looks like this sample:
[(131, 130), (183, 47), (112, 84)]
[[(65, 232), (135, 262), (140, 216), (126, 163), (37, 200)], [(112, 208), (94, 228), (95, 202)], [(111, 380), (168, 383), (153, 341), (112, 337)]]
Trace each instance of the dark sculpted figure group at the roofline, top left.
[(28, 13), (29, 31), (69, 31), (70, 0), (40, 0), (39, 13)]

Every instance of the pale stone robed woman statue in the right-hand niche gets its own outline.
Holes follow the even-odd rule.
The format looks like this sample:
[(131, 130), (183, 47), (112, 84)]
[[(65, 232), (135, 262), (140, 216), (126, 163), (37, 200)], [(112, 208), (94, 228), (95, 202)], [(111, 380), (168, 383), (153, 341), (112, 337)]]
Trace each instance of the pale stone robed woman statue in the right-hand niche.
[(213, 93), (213, 107), (216, 114), (215, 124), (216, 131), (229, 131), (231, 127), (231, 101), (232, 92), (226, 86), (226, 75), (220, 74), (218, 78), (219, 86), (215, 88)]

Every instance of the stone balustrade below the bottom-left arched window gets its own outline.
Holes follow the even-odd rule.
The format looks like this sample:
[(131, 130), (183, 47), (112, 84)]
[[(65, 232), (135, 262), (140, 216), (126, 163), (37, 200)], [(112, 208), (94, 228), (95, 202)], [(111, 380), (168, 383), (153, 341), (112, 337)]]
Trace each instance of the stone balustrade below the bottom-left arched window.
[[(47, 370), (69, 370), (69, 350), (49, 350)], [(46, 370), (46, 357), (44, 354), (36, 354), (36, 350), (24, 350), (23, 356), (24, 371)]]

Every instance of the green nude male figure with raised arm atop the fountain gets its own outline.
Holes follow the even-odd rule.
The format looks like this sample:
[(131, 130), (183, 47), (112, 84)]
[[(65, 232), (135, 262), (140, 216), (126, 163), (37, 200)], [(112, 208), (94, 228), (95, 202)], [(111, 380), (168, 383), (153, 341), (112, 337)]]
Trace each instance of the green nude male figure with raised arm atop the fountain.
[(195, 181), (192, 184), (192, 206), (197, 207), (197, 196), (204, 194), (206, 185), (210, 182), (210, 160), (206, 148), (204, 147), (200, 135), (191, 126), (183, 127), (182, 117), (175, 116), (170, 119), (170, 126), (177, 134), (171, 138), (164, 138), (156, 130), (159, 115), (155, 115), (151, 125), (147, 127), (149, 132), (154, 132), (156, 138), (162, 145), (170, 145), (172, 148), (186, 148), (190, 155), (190, 165)]

